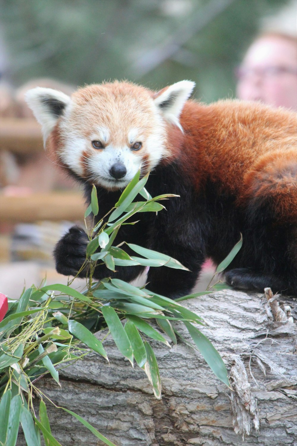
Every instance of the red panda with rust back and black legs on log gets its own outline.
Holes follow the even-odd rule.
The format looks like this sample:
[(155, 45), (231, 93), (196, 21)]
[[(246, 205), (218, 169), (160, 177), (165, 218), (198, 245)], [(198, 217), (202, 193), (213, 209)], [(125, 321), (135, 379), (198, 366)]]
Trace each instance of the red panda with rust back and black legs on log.
[[(98, 219), (139, 168), (141, 175), (151, 171), (146, 188), (152, 196), (180, 196), (117, 235), (116, 243), (163, 252), (190, 270), (150, 268), (151, 291), (172, 298), (189, 293), (204, 260), (218, 264), (242, 233), (227, 283), (297, 295), (297, 115), (238, 100), (198, 103), (188, 100), (194, 85), (185, 80), (154, 92), (104, 83), (71, 98), (37, 87), (27, 101), (53, 159), (84, 183), (88, 203), (96, 185)], [(59, 273), (77, 273), (87, 241), (78, 227), (64, 235), (54, 251)], [(94, 277), (131, 281), (142, 269), (112, 273), (98, 265)]]

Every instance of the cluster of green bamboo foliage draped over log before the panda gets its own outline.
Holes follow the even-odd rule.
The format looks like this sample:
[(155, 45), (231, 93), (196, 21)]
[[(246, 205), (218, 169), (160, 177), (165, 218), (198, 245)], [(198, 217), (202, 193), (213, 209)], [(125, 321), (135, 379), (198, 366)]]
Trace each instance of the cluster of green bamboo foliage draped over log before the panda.
[[(50, 374), (59, 382), (59, 369), (72, 361), (95, 351), (109, 362), (104, 349), (104, 339), (94, 332), (107, 329), (119, 351), (134, 360), (146, 373), (156, 398), (161, 398), (159, 368), (150, 339), (170, 347), (167, 339), (176, 344), (179, 335), (175, 322), (182, 321), (193, 340), (192, 346), (200, 351), (216, 376), (229, 386), (227, 370), (212, 343), (196, 325), (205, 325), (203, 319), (184, 308), (179, 301), (196, 297), (191, 294), (176, 301), (152, 293), (145, 287), (136, 287), (119, 279), (106, 278), (94, 282), (92, 275), (98, 263), (105, 263), (110, 270), (117, 266), (145, 265), (150, 267), (186, 269), (177, 260), (134, 244), (128, 244), (137, 256), (129, 256), (124, 249), (113, 246), (117, 232), (127, 219), (138, 212), (159, 212), (164, 206), (159, 201), (172, 195), (152, 198), (145, 189), (147, 176), (139, 181), (139, 172), (123, 191), (106, 222), (103, 219), (90, 233), (85, 263), (90, 274), (85, 290), (78, 292), (70, 285), (44, 285), (24, 290), (19, 300), (9, 301), (8, 313), (0, 323), (0, 444), (15, 446), (21, 424), (28, 446), (40, 446), (41, 434), (47, 446), (60, 443), (51, 433), (45, 400), (49, 398), (37, 387), (37, 379)], [(138, 194), (144, 201), (134, 202)], [(95, 187), (92, 200), (85, 213), (98, 214)], [(240, 249), (241, 241), (217, 268), (222, 271)], [(226, 288), (217, 283), (215, 289)], [(210, 292), (210, 291), (207, 291)], [(151, 321), (156, 321), (156, 330)], [(163, 334), (167, 335), (167, 339)], [(104, 365), (102, 364), (102, 367)], [(37, 403), (40, 401), (39, 412)], [(92, 425), (76, 413), (65, 409), (90, 429), (107, 445), (114, 445)], [(37, 413), (38, 412), (38, 413)]]

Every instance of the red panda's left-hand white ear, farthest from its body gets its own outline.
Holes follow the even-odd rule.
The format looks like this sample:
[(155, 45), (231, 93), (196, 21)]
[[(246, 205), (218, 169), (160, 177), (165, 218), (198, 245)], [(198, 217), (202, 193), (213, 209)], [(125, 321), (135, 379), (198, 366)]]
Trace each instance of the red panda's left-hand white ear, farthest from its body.
[(46, 140), (69, 104), (70, 97), (52, 88), (36, 87), (26, 92), (25, 99), (42, 125), (43, 137)]

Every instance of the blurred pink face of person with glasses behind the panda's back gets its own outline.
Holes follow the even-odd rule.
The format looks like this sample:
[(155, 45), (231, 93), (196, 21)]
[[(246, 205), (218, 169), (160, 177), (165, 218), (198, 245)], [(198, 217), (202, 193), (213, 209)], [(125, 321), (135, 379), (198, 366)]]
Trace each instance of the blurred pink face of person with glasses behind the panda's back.
[(237, 97), (297, 110), (297, 45), (281, 37), (256, 40), (238, 70)]

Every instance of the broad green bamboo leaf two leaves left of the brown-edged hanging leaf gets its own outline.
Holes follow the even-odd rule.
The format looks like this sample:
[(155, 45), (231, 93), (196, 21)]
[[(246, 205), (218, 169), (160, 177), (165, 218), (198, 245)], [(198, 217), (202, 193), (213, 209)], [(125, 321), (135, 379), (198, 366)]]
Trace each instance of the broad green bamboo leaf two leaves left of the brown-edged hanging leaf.
[(112, 307), (103, 306), (101, 311), (104, 319), (106, 320), (107, 326), (110, 329), (110, 333), (114, 338), (116, 346), (118, 347), (119, 351), (127, 359), (129, 359), (133, 367), (133, 351), (126, 331), (122, 326), (122, 322)]

